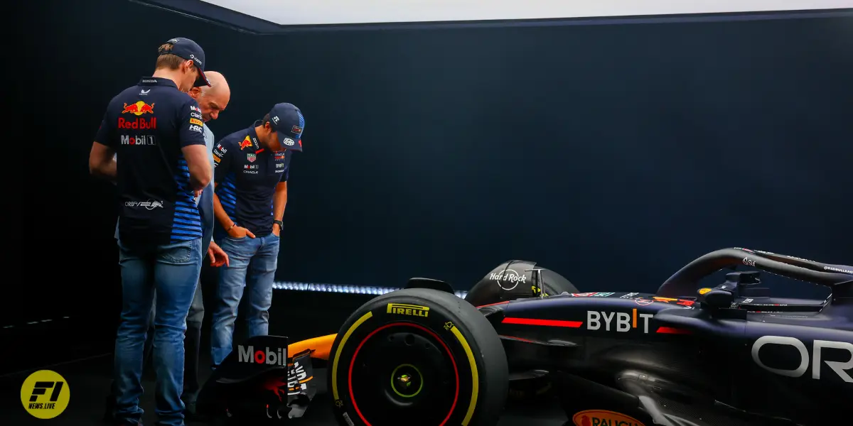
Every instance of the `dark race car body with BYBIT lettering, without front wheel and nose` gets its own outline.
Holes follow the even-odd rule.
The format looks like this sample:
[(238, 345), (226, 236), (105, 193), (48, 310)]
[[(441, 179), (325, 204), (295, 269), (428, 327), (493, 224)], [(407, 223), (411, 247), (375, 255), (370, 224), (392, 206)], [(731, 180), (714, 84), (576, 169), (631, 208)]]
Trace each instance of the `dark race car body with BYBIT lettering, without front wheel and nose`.
[[(831, 295), (773, 297), (757, 271), (697, 289), (699, 279), (737, 264), (823, 285)], [(657, 294), (548, 296), (534, 296), (548, 282), (537, 279), (534, 262), (525, 267), (533, 272), (520, 281), (532, 284), (531, 294), (479, 309), (502, 337), (512, 371), (548, 371), (570, 419), (595, 409), (644, 425), (822, 426), (853, 414), (850, 267), (725, 249), (691, 262)]]

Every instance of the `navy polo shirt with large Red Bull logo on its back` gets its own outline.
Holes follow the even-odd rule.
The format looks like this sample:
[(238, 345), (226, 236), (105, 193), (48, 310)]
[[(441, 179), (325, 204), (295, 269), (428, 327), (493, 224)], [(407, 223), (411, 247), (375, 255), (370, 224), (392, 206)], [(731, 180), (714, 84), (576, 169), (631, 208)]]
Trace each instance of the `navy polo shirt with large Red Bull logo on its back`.
[(142, 78), (113, 97), (95, 141), (118, 154), (122, 243), (201, 238), (201, 218), (181, 148), (205, 145), (198, 103), (168, 78)]

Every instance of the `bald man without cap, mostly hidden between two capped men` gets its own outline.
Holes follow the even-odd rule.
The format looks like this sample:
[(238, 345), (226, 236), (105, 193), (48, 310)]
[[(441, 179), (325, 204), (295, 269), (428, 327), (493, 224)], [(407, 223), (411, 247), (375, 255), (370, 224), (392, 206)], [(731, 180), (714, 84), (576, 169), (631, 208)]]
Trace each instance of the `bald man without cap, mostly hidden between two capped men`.
[[(215, 120), (219, 118), (219, 113), (225, 110), (225, 107), (228, 107), (228, 102), (231, 99), (231, 89), (229, 88), (228, 82), (225, 80), (223, 75), (219, 72), (215, 71), (207, 71), (205, 72), (205, 77), (207, 81), (210, 83), (209, 86), (201, 86), (194, 87), (187, 91), (187, 93), (199, 104), (198, 111), (192, 112), (193, 118), (200, 119), (204, 122), (203, 130), (204, 130), (204, 138), (205, 144), (207, 147), (207, 153), (209, 160), (211, 162), (211, 166), (213, 164), (213, 146), (214, 146), (214, 138), (213, 132), (210, 128), (207, 127), (207, 123), (210, 120)], [(214, 213), (213, 213), (213, 192), (214, 185), (213, 181), (201, 191), (201, 193), (196, 197), (196, 204), (198, 205), (200, 218), (201, 218), (201, 228), (202, 228), (202, 253), (206, 253), (209, 258), (209, 262), (212, 267), (219, 267), (223, 264), (227, 265), (229, 263), (228, 255), (219, 248), (216, 242), (212, 241), (212, 232), (213, 232), (213, 224), (214, 224)], [(116, 233), (115, 238), (119, 239), (119, 226), (116, 225)], [(187, 315), (187, 331), (184, 336), (184, 376), (183, 376), (183, 394), (181, 395), (181, 400), (183, 400), (183, 405), (185, 407), (184, 416), (194, 417), (195, 414), (195, 400), (198, 396), (200, 384), (199, 384), (199, 353), (200, 353), (200, 338), (201, 338), (201, 323), (204, 320), (205, 308), (203, 304), (203, 299), (201, 296), (201, 280), (199, 278), (199, 282), (195, 287), (195, 295), (193, 297), (192, 305), (189, 307), (189, 314)], [(149, 330), (148, 330), (148, 340), (145, 345), (145, 352), (143, 356), (143, 360), (148, 359), (148, 353), (150, 353), (152, 339), (151, 337), (154, 334), (154, 306), (151, 308), (151, 316), (149, 319)], [(105, 420), (112, 422), (113, 421), (113, 406), (115, 402), (115, 389), (111, 389), (111, 395), (107, 398), (107, 412), (105, 413)]]

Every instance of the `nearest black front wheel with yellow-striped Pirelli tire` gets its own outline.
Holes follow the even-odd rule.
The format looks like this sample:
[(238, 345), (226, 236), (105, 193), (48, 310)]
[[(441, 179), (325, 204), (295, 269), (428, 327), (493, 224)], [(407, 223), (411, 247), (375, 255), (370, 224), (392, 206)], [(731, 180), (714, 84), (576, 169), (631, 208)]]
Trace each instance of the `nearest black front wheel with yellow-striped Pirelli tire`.
[(444, 291), (405, 289), (365, 303), (329, 358), (328, 391), (345, 426), (493, 426), (507, 399), (495, 329)]

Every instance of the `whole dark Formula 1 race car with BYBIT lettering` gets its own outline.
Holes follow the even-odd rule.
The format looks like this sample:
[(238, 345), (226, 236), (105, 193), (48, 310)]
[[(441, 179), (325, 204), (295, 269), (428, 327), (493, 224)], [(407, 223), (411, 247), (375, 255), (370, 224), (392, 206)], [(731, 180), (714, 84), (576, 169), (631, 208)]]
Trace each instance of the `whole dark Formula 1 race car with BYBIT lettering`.
[[(723, 268), (734, 271), (724, 283), (699, 288)], [(299, 417), (316, 390), (310, 369), (325, 362), (347, 426), (490, 426), (508, 395), (543, 384), (567, 426), (842, 424), (853, 414), (851, 269), (734, 248), (690, 262), (656, 294), (579, 292), (522, 261), (464, 300), (442, 281), (410, 279), (336, 335), (250, 339), (206, 383), (199, 409)], [(771, 296), (760, 271), (829, 296)]]

